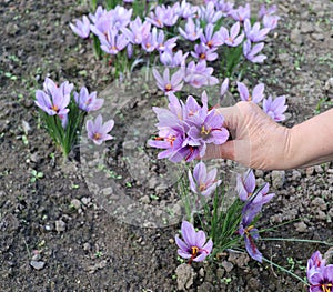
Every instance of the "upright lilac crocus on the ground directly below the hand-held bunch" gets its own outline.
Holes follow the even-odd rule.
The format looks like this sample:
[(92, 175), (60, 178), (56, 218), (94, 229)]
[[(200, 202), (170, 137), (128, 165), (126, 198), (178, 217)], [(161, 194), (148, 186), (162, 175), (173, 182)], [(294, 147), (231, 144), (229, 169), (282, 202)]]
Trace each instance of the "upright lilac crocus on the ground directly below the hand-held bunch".
[(210, 195), (222, 182), (221, 180), (216, 180), (216, 169), (212, 169), (208, 172), (205, 164), (199, 162), (193, 170), (193, 175), (189, 170), (190, 188), (192, 192)]

